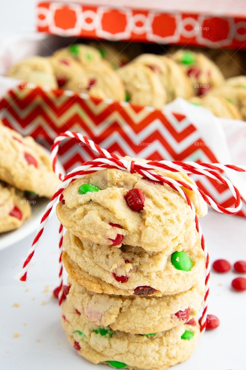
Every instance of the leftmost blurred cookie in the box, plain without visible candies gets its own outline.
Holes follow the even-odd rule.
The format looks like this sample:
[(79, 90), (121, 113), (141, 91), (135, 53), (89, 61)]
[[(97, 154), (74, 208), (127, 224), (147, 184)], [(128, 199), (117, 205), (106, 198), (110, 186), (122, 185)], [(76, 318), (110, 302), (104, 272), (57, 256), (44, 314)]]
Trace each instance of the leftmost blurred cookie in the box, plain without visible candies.
[(51, 64), (48, 58), (44, 57), (34, 56), (23, 59), (10, 68), (7, 76), (40, 86), (58, 87)]

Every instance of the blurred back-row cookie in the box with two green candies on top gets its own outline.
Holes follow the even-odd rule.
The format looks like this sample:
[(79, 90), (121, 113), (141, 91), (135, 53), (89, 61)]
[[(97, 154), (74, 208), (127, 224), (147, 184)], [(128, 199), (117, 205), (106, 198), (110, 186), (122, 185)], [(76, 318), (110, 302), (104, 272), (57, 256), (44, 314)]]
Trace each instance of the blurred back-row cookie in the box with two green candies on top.
[(72, 44), (68, 47), (58, 49), (55, 51), (54, 56), (61, 60), (73, 58), (84, 67), (102, 61), (100, 52), (95, 47), (85, 44)]

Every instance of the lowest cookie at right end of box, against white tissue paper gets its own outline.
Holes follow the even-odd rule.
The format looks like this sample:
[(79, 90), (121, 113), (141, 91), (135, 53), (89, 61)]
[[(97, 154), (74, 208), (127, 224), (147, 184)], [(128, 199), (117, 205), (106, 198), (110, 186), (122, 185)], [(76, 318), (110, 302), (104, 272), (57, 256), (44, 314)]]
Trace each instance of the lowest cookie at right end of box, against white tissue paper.
[(242, 120), (242, 115), (240, 114), (238, 107), (223, 97), (215, 97), (210, 94), (206, 94), (202, 97), (193, 97), (189, 102), (194, 105), (201, 105), (211, 111), (216, 117)]

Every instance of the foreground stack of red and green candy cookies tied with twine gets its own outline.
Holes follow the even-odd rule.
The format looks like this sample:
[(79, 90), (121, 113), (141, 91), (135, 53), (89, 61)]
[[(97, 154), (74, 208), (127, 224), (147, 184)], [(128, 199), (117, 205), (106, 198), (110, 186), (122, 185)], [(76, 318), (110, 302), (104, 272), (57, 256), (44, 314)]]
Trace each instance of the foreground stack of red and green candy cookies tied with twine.
[[(184, 173), (162, 174), (193, 183)], [(206, 203), (184, 191), (205, 215)], [(118, 169), (78, 178), (63, 195), (57, 215), (67, 229), (69, 276), (61, 320), (78, 354), (116, 369), (164, 370), (187, 360), (200, 333), (205, 257), (186, 201)]]

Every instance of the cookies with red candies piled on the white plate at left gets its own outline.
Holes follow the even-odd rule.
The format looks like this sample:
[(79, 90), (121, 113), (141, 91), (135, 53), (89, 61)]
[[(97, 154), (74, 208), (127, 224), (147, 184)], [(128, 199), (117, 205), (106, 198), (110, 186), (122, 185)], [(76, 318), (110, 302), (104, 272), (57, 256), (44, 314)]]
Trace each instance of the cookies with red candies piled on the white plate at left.
[(37, 197), (50, 198), (59, 183), (47, 152), (0, 122), (0, 232), (19, 228)]

